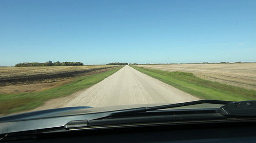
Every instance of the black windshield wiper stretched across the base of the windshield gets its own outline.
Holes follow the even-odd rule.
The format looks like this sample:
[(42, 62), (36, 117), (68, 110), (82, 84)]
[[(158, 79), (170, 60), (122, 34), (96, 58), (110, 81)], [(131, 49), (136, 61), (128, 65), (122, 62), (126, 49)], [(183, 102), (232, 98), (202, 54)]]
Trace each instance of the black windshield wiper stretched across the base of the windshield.
[[(111, 112), (108, 116), (104, 116), (104, 117), (93, 119), (93, 120), (70, 121), (64, 126), (64, 128), (67, 130), (73, 130), (73, 129), (87, 128), (88, 126), (96, 126), (96, 125), (99, 126), (99, 125), (109, 125), (109, 124), (127, 123), (127, 122), (133, 123), (133, 122), (138, 122), (138, 121), (131, 120), (132, 117), (134, 117), (134, 115), (137, 113), (146, 113), (147, 111), (156, 111), (160, 109), (170, 109), (170, 108), (184, 107), (184, 106), (198, 105), (198, 104), (224, 105), (224, 106), (221, 106), (220, 108), (207, 110), (205, 112), (205, 116), (207, 116), (207, 113), (216, 113), (215, 118), (227, 118), (225, 116), (232, 116), (232, 117), (256, 116), (256, 107), (254, 106), (256, 104), (256, 101), (233, 102), (233, 101), (221, 101), (221, 100), (199, 100), (199, 101), (191, 101), (191, 102), (185, 102), (185, 103), (154, 106), (154, 107), (141, 107), (141, 108), (117, 110), (117, 111)], [(202, 118), (201, 116), (203, 115), (203, 110), (196, 110), (196, 109), (184, 109), (184, 110), (175, 109), (175, 110), (171, 110), (171, 112), (178, 113), (178, 115), (181, 113), (181, 115), (183, 114), (183, 116), (185, 113), (186, 115), (190, 115), (189, 118), (191, 118), (192, 116), (196, 116), (196, 117), (193, 117), (193, 119)], [(201, 113), (201, 116), (198, 117), (195, 113), (191, 115), (191, 111), (194, 111), (194, 110), (197, 111), (196, 114)], [(170, 110), (166, 110), (166, 111), (170, 111)], [(115, 119), (116, 117), (120, 117), (120, 116), (122, 118)], [(129, 117), (130, 120), (127, 120), (125, 117)], [(165, 117), (161, 117), (161, 118), (165, 118)], [(166, 116), (166, 118), (170, 118), (170, 117)], [(177, 117), (173, 117), (173, 118), (177, 118)]]

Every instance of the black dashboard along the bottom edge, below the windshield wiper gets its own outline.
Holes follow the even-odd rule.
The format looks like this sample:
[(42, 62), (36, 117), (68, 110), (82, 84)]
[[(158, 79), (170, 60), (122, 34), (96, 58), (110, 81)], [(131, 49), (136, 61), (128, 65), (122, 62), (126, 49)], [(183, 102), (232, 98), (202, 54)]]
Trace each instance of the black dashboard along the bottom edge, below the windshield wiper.
[[(201, 123), (165, 126), (34, 133), (5, 138), (7, 142), (256, 142), (255, 122)], [(6, 140), (8, 139), (8, 140)], [(14, 140), (15, 141), (12, 141)], [(1, 142), (1, 140), (0, 140)]]

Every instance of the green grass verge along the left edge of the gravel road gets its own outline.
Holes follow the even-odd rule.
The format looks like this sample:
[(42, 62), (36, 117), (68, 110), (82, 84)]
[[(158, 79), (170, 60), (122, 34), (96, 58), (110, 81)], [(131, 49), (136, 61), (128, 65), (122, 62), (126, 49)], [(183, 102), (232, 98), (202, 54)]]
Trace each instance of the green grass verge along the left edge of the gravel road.
[(44, 104), (44, 102), (49, 99), (69, 96), (74, 92), (89, 88), (102, 81), (104, 78), (117, 72), (122, 67), (123, 66), (119, 66), (105, 72), (74, 78), (73, 81), (68, 84), (45, 91), (34, 93), (0, 94), (0, 115), (8, 115), (13, 112), (31, 110)]

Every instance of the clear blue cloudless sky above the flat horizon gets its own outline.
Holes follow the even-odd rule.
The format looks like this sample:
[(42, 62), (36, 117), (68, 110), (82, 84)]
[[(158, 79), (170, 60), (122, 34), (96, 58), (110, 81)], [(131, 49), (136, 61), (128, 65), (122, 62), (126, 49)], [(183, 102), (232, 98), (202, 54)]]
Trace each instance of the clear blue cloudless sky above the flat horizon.
[(0, 66), (256, 62), (256, 1), (0, 1)]

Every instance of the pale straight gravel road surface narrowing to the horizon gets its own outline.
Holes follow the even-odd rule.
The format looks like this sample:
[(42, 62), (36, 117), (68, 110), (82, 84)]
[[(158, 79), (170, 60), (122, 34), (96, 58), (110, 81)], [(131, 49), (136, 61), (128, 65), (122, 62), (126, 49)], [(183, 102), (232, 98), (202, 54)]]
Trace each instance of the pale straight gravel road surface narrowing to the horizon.
[(46, 102), (34, 110), (71, 106), (112, 106), (150, 103), (179, 103), (200, 100), (129, 66), (91, 88)]

